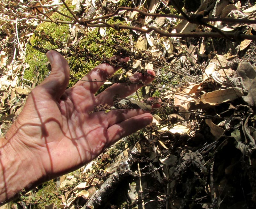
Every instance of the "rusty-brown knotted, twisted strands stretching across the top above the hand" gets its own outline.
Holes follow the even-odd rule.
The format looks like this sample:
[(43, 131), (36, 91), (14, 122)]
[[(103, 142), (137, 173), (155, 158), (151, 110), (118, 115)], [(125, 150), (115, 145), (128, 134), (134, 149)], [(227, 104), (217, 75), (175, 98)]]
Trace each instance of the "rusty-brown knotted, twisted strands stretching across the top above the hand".
[[(18, 2), (20, 2), (19, 0), (17, 0)], [(218, 33), (195, 33), (195, 32), (192, 32), (192, 33), (167, 33), (159, 28), (156, 28), (156, 27), (149, 27), (148, 29), (141, 29), (139, 27), (133, 27), (133, 26), (127, 26), (127, 25), (121, 25), (120, 23), (117, 23), (117, 24), (108, 24), (104, 21), (97, 21), (99, 19), (105, 19), (105, 18), (109, 18), (109, 17), (112, 17), (114, 15), (116, 15), (119, 11), (123, 11), (123, 10), (126, 10), (126, 11), (137, 11), (139, 12), (140, 14), (143, 14), (143, 15), (146, 15), (146, 16), (151, 16), (151, 17), (172, 17), (172, 18), (179, 18), (179, 19), (187, 19), (189, 22), (191, 23), (194, 23), (194, 19), (192, 17), (188, 17), (187, 15), (185, 17), (183, 16), (179, 16), (179, 15), (170, 15), (170, 14), (152, 14), (152, 13), (147, 13), (147, 12), (144, 12), (144, 11), (141, 11), (139, 9), (136, 9), (136, 8), (129, 8), (129, 7), (119, 7), (114, 13), (112, 14), (108, 14), (108, 15), (105, 15), (105, 16), (101, 16), (101, 17), (97, 17), (97, 18), (94, 18), (94, 19), (78, 19), (76, 17), (76, 15), (74, 14), (74, 12), (72, 12), (70, 10), (70, 8), (68, 7), (68, 5), (65, 3), (64, 0), (61, 0), (63, 2), (63, 4), (65, 5), (65, 7), (68, 9), (68, 11), (70, 12), (70, 14), (73, 16), (68, 16), (68, 15), (65, 15), (63, 14), (62, 12), (58, 11), (57, 9), (53, 8), (53, 7), (50, 7), (51, 9), (53, 9), (54, 11), (58, 12), (59, 14), (67, 17), (67, 18), (70, 18), (72, 19), (73, 21), (62, 21), (62, 20), (59, 20), (59, 19), (51, 19), (51, 17), (43, 12), (41, 12), (38, 8), (39, 7), (46, 7), (44, 5), (42, 6), (34, 6), (34, 5), (27, 5), (27, 4), (24, 4), (22, 2), (20, 2), (21, 5), (24, 5), (28, 8), (30, 8), (31, 10), (36, 10), (38, 11), (41, 15), (44, 15), (46, 16), (48, 19), (44, 19), (41, 15), (37, 15), (37, 16), (32, 16), (32, 15), (22, 15), (22, 13), (19, 12), (19, 17), (26, 17), (26, 18), (33, 18), (33, 19), (39, 19), (41, 21), (45, 21), (45, 22), (54, 22), (54, 23), (60, 23), (60, 24), (75, 24), (75, 23), (79, 23), (80, 25), (84, 25), (86, 27), (108, 27), (108, 28), (114, 28), (114, 29), (128, 29), (128, 30), (133, 30), (133, 31), (138, 31), (138, 32), (141, 32), (143, 34), (146, 34), (146, 33), (150, 33), (151, 31), (155, 31), (156, 33), (162, 35), (162, 36), (165, 36), (165, 37), (212, 37), (212, 38), (226, 38), (230, 41), (241, 41), (241, 40), (244, 40), (244, 39), (248, 39), (248, 40), (256, 40), (255, 36), (254, 35), (245, 35), (245, 34), (242, 34), (241, 32), (237, 33), (227, 33), (227, 32), (223, 32), (221, 31), (220, 29), (208, 24), (207, 22), (208, 21), (225, 21), (225, 22), (237, 22), (237, 23), (249, 23), (249, 24), (252, 24), (252, 23), (256, 23), (256, 20), (252, 20), (252, 19), (231, 19), (231, 18), (199, 18), (197, 19), (197, 24), (200, 24), (200, 25), (204, 25), (206, 27), (210, 27), (212, 28), (213, 30), (215, 30), (216, 32)], [(6, 12), (5, 12), (6, 13)], [(7, 13), (6, 13), (7, 14)], [(12, 14), (10, 13), (10, 15), (14, 16), (14, 17), (18, 17), (16, 14)]]

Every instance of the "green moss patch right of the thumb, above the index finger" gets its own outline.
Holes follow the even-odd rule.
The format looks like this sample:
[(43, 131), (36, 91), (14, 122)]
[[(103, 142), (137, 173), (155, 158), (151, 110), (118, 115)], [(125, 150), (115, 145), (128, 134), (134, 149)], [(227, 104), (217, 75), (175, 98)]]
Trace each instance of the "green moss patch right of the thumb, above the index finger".
[[(118, 19), (108, 21), (109, 24), (114, 22), (120, 21)], [(122, 24), (124, 23), (122, 22)], [(113, 45), (118, 44), (120, 47), (125, 48), (122, 43), (128, 43), (128, 41), (129, 36), (127, 31), (124, 30), (117, 31), (113, 28), (106, 28), (106, 36), (103, 38), (100, 36), (98, 29), (86, 32), (77, 47), (86, 49), (90, 55), (84, 52), (79, 57), (68, 58), (71, 75), (69, 86), (73, 86), (77, 80), (83, 78), (89, 71), (99, 65), (101, 63), (100, 59), (113, 56), (114, 52), (116, 52), (112, 47)], [(120, 73), (120, 71), (118, 72)]]

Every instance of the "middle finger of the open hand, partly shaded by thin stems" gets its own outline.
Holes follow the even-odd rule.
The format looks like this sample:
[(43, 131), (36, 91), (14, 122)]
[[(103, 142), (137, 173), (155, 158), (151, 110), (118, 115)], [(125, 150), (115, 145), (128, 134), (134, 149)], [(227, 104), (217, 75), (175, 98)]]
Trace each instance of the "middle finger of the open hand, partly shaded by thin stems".
[(139, 88), (148, 84), (154, 80), (156, 76), (153, 70), (148, 70), (148, 75), (142, 75), (141, 73), (135, 73), (130, 77), (132, 84), (113, 84), (108, 87), (105, 91), (97, 95), (97, 99), (100, 102), (113, 105), (113, 97), (117, 95), (118, 98), (124, 98), (132, 93), (136, 92)]

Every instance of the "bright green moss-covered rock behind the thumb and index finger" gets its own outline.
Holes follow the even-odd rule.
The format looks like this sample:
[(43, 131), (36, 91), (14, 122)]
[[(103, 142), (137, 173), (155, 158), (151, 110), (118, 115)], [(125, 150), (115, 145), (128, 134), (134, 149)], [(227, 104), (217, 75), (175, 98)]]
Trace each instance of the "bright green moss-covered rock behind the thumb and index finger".
[[(64, 11), (62, 11), (64, 13)], [(53, 19), (68, 20), (58, 13), (51, 16)], [(119, 19), (110, 19), (108, 23), (124, 22)], [(117, 31), (113, 28), (106, 28), (106, 36), (101, 37), (99, 29), (85, 31), (75, 46), (67, 47), (68, 53), (64, 56), (70, 66), (69, 86), (73, 86), (79, 79), (83, 78), (93, 67), (97, 66), (104, 57), (111, 57), (116, 51), (113, 45), (127, 43), (129, 36), (124, 30)], [(24, 73), (24, 78), (34, 81), (36, 73), (40, 73), (39, 82), (49, 73), (49, 66), (45, 52), (50, 49), (63, 49), (70, 37), (68, 25), (56, 25), (52, 22), (43, 22), (36, 28), (32, 35), (30, 44), (27, 46), (26, 61), (29, 68)], [(39, 50), (38, 50), (39, 49)], [(85, 50), (79, 50), (85, 49)], [(74, 53), (76, 52), (76, 53)], [(75, 56), (72, 56), (72, 54)]]

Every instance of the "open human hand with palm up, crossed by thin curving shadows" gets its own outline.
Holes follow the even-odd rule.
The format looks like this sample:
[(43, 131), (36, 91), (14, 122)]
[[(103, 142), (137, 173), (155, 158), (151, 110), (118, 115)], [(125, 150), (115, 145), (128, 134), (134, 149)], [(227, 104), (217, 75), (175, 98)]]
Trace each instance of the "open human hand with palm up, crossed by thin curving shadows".
[[(29, 94), (22, 112), (6, 134), (6, 142), (2, 142), (2, 147), (11, 144), (21, 161), (29, 161), (34, 169), (31, 178), (35, 178), (31, 179), (31, 185), (80, 168), (106, 147), (140, 130), (153, 119), (142, 109), (92, 112), (95, 105), (112, 105), (115, 95), (126, 97), (142, 86), (114, 84), (95, 96), (103, 84), (97, 81), (106, 81), (120, 67), (100, 64), (75, 86), (66, 89), (69, 81), (67, 61), (56, 51), (49, 51), (46, 56), (52, 65), (50, 75)], [(115, 59), (128, 61), (128, 58)], [(155, 75), (152, 70), (148, 73)], [(140, 73), (130, 79), (145, 84), (153, 80)], [(24, 159), (24, 155), (28, 157)], [(23, 164), (22, 167), (26, 167)]]

